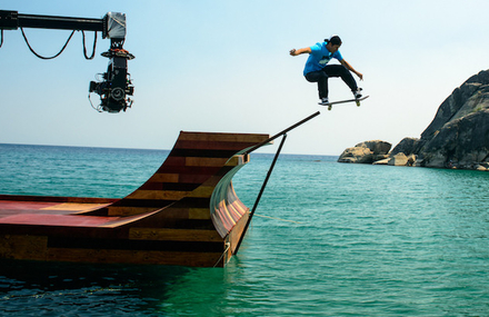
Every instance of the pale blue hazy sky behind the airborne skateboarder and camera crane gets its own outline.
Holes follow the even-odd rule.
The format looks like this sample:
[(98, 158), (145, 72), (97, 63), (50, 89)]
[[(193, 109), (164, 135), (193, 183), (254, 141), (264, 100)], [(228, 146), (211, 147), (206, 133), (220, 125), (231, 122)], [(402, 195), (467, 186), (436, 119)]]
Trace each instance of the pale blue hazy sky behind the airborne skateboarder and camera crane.
[[(488, 69), (486, 0), (2, 0), (0, 10), (102, 18), (127, 14), (124, 49), (134, 103), (99, 113), (88, 87), (107, 71), (110, 46), (98, 36), (86, 60), (81, 32), (53, 60), (28, 49), (20, 30), (0, 48), (0, 143), (171, 149), (183, 131), (288, 133), (285, 153), (340, 155), (367, 140), (396, 146), (419, 138), (438, 107), (472, 75)], [(39, 53), (54, 55), (70, 31), (24, 29)], [(310, 47), (331, 34), (363, 73), (361, 107), (318, 106), (316, 83), (302, 76)], [(87, 33), (89, 50), (93, 33)], [(358, 78), (356, 77), (358, 80)], [(330, 100), (351, 98), (330, 79)], [(98, 103), (98, 96), (92, 96)], [(262, 152), (275, 152), (273, 146)]]

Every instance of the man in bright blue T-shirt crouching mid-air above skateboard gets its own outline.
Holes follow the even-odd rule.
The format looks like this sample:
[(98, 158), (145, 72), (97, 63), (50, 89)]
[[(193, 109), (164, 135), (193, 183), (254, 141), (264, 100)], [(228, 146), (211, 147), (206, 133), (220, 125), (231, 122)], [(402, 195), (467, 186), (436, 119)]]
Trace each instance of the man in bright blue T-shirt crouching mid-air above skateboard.
[[(341, 77), (345, 83), (350, 87), (355, 98), (358, 99), (361, 97), (361, 88), (358, 88), (357, 81), (351, 72), (357, 75), (360, 80), (363, 80), (363, 75), (355, 70), (351, 65), (343, 59), (339, 51), (340, 46), (340, 37), (332, 36), (322, 43), (316, 43), (309, 48), (290, 50), (291, 56), (309, 53), (303, 69), (303, 76), (309, 82), (318, 82), (319, 105), (328, 105), (328, 78), (330, 77)], [(328, 65), (332, 58), (337, 59), (341, 65)]]

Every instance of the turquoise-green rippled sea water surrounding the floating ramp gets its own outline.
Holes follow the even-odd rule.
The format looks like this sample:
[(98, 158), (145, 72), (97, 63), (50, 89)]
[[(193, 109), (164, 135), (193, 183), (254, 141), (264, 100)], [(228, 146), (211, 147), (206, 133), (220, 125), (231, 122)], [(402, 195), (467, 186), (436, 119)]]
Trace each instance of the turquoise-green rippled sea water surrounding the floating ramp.
[[(123, 197), (168, 151), (0, 145), (0, 194)], [(234, 177), (252, 207), (272, 155)], [(0, 261), (4, 316), (489, 316), (489, 174), (282, 155), (226, 268)]]

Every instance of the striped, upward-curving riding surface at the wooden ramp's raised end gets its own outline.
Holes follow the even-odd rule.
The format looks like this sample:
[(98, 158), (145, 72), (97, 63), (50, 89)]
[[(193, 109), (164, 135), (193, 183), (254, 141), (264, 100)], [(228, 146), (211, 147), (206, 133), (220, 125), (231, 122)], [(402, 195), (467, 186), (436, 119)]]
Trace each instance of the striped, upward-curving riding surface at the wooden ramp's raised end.
[[(247, 158), (233, 156), (269, 138), (268, 135), (181, 131), (166, 161), (141, 187), (108, 208), (108, 216), (132, 216), (169, 207), (183, 199), (189, 208), (206, 208), (217, 184), (227, 171)], [(214, 179), (216, 181), (217, 179)], [(203, 200), (206, 201), (203, 201)], [(201, 210), (203, 211), (203, 210)]]

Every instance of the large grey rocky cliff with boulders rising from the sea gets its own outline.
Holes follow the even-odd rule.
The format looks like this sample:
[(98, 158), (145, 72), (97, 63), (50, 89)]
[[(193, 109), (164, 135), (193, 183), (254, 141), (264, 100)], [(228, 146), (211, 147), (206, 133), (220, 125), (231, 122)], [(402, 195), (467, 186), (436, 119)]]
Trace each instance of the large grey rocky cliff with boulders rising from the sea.
[[(345, 160), (351, 151), (351, 148), (347, 149), (338, 161), (361, 162), (361, 159)], [(388, 156), (380, 164), (487, 170), (489, 70), (472, 76), (455, 89), (440, 105), (420, 139), (403, 139)], [(406, 164), (402, 164), (403, 157)]]

